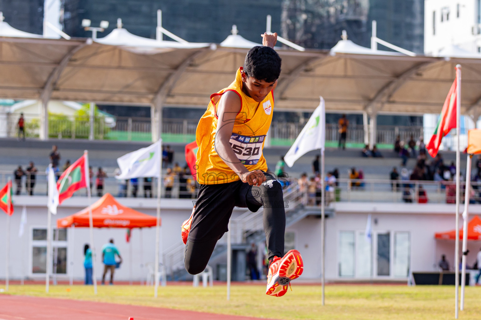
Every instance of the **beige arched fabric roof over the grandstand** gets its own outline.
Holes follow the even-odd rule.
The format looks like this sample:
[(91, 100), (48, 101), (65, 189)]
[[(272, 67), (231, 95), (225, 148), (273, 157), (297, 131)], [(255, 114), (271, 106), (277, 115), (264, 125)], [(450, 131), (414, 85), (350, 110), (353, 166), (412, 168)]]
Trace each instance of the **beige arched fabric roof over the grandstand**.
[[(91, 39), (0, 37), (0, 97), (204, 108), (212, 93), (233, 81), (248, 51), (165, 42), (171, 43), (168, 50), (145, 54)], [(481, 112), (481, 59), (409, 57), (349, 40), (331, 51), (278, 53), (278, 110), (312, 111), (322, 95), (328, 112), (438, 114), (460, 63), (461, 112)]]

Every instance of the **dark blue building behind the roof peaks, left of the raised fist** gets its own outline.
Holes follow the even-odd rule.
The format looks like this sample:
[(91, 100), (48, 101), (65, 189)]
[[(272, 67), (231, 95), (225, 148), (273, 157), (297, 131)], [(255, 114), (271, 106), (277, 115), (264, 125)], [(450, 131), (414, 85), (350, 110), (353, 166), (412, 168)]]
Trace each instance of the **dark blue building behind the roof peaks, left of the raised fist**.
[(91, 20), (92, 26), (106, 20), (110, 26), (98, 35), (102, 37), (121, 18), (129, 32), (155, 38), (158, 9), (162, 10), (162, 26), (190, 42), (220, 43), (233, 24), (241, 36), (261, 42), (268, 14), (272, 16), (272, 31), (280, 32), (278, 0), (63, 0), (63, 31), (70, 36), (89, 37), (91, 33), (81, 27), (82, 19)]

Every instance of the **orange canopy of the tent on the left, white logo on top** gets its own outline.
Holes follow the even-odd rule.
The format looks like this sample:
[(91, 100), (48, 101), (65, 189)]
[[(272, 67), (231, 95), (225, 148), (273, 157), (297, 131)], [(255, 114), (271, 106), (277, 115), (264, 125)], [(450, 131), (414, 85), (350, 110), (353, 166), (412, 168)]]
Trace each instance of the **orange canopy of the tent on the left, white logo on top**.
[[(118, 203), (110, 193), (106, 193), (92, 204), (91, 208), (94, 228), (144, 228), (155, 226), (157, 223), (155, 217)], [(71, 225), (89, 227), (89, 208), (57, 220), (59, 228), (67, 228)]]

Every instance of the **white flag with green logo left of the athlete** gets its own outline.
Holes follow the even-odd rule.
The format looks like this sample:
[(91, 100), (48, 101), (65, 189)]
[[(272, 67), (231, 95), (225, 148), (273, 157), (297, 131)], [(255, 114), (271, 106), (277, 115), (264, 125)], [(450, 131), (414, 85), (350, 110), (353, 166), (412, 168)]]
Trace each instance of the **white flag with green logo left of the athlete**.
[(117, 158), (120, 175), (115, 178), (127, 180), (131, 178), (155, 177), (160, 174), (160, 160), (162, 141), (159, 140), (150, 146), (141, 148)]

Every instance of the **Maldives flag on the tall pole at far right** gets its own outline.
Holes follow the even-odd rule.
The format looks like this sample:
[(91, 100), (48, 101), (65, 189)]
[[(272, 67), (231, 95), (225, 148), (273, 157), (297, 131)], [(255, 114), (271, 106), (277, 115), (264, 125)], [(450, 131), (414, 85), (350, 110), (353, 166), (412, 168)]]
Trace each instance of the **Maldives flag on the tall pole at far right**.
[(438, 119), (438, 124), (434, 133), (432, 134), (431, 140), (426, 144), (426, 149), (428, 149), (431, 157), (435, 157), (438, 154), (439, 146), (441, 145), (441, 140), (443, 137), (451, 131), (451, 129), (456, 128), (456, 108), (457, 108), (457, 97), (456, 97), (456, 80), (454, 80), (451, 89), (449, 89), (448, 96), (444, 100), (443, 110)]

